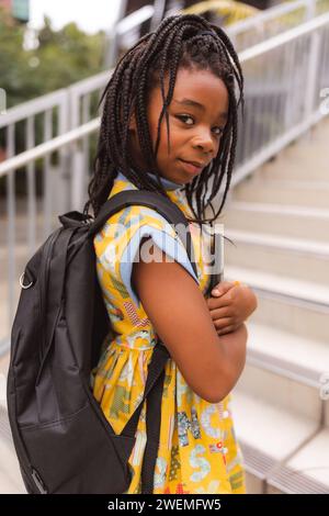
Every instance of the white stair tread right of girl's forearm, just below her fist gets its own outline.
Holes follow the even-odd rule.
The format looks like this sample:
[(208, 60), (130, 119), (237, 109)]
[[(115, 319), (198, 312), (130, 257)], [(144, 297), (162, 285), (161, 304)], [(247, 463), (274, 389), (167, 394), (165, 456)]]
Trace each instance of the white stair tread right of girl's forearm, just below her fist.
[(248, 356), (268, 359), (272, 364), (292, 371), (303, 370), (319, 382), (324, 363), (329, 363), (327, 343), (248, 321)]

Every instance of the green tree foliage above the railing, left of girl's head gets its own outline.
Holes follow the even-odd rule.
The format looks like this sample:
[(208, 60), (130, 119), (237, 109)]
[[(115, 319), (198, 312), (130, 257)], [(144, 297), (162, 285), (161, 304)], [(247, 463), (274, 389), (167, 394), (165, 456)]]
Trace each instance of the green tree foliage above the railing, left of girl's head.
[(54, 31), (48, 18), (26, 49), (25, 26), (0, 10), (0, 87), (8, 108), (67, 87), (102, 69), (105, 33), (86, 34), (76, 23)]

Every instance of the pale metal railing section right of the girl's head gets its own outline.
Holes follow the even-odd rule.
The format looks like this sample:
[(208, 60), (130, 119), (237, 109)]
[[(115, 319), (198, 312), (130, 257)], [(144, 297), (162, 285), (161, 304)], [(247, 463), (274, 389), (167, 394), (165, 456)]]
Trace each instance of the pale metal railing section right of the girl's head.
[(246, 78), (232, 187), (327, 113), (329, 13), (239, 54)]

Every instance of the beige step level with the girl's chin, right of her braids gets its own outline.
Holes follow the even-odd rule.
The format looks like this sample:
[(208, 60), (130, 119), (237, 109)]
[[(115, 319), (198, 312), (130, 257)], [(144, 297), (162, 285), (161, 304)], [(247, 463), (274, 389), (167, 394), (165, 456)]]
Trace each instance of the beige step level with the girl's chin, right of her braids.
[(273, 181), (251, 178), (235, 188), (232, 199), (328, 209), (329, 181)]

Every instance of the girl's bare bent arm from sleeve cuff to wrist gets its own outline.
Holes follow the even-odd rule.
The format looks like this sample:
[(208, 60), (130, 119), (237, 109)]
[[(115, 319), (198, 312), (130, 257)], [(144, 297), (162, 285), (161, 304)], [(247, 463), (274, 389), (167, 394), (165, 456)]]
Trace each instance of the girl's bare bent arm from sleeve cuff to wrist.
[(218, 337), (206, 301), (179, 263), (156, 246), (152, 261), (133, 266), (133, 284), (156, 333), (191, 389), (211, 403), (222, 401), (246, 361), (247, 329)]

